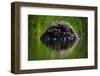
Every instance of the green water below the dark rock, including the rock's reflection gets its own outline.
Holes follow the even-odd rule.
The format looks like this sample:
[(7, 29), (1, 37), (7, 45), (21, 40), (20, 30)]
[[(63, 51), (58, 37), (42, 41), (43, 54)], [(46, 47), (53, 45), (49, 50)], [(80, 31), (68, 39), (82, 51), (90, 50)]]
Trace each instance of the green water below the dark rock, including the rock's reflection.
[(28, 60), (55, 60), (87, 58), (87, 39), (73, 42), (48, 42), (40, 40), (40, 36), (33, 37), (28, 46)]

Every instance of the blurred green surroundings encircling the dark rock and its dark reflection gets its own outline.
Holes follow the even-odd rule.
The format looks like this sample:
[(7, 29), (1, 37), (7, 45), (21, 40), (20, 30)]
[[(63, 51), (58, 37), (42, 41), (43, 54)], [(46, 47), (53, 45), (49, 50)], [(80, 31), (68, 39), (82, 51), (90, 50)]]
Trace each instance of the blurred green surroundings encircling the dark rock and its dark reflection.
[[(28, 60), (87, 58), (87, 20), (87, 17), (28, 15)], [(56, 51), (47, 48), (41, 42), (41, 35), (47, 28), (52, 26), (50, 22), (55, 21), (64, 21), (69, 23), (80, 37), (81, 40), (77, 42), (73, 49), (69, 49), (67, 51)]]

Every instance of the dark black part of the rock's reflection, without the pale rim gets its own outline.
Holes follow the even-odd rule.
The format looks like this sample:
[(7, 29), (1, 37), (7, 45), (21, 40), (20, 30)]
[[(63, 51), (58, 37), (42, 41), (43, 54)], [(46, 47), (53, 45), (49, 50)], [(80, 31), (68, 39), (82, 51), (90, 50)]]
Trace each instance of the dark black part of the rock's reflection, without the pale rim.
[(46, 45), (48, 48), (56, 50), (56, 51), (61, 51), (61, 50), (68, 50), (71, 48), (76, 40), (74, 41), (42, 41), (44, 45)]

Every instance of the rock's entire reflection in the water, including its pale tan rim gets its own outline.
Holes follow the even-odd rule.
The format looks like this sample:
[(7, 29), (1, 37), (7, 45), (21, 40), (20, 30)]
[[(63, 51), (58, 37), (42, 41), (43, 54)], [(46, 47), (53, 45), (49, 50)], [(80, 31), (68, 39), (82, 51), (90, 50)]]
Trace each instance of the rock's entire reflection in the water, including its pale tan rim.
[(57, 55), (59, 58), (66, 56), (66, 53), (70, 52), (75, 47), (77, 42), (78, 42), (78, 40), (74, 40), (74, 41), (62, 41), (62, 40), (60, 40), (60, 41), (58, 41), (58, 40), (42, 41), (42, 43), (47, 48), (51, 49), (50, 53), (52, 53), (52, 57)]

